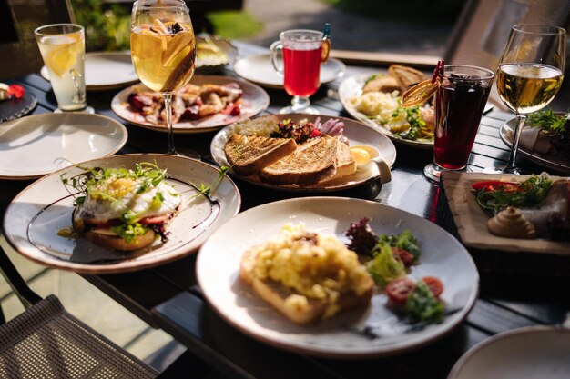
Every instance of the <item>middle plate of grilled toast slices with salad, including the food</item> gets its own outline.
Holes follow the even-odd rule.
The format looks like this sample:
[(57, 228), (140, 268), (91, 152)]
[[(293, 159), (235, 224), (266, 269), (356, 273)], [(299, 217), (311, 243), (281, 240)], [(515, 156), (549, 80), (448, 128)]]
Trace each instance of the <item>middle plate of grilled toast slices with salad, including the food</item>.
[(214, 136), (210, 152), (241, 180), (292, 192), (387, 183), (396, 160), (392, 141), (382, 133), (327, 115), (266, 115), (229, 125)]

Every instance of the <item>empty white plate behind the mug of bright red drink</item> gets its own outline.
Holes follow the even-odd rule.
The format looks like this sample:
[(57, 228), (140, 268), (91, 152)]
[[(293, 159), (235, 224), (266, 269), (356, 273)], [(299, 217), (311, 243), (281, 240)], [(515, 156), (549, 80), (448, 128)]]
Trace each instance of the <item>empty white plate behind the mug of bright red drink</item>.
[[(270, 61), (269, 54), (251, 55), (239, 59), (234, 64), (236, 73), (251, 82), (270, 88), (283, 88), (283, 76), (277, 74)], [(330, 83), (346, 71), (346, 66), (338, 59), (331, 58), (321, 65), (321, 83)]]

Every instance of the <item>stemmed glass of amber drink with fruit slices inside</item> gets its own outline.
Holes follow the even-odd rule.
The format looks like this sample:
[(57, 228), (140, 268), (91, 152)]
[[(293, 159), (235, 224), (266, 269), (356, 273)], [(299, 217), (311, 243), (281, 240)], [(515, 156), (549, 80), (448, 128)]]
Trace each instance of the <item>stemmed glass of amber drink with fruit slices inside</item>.
[(172, 129), (172, 93), (188, 84), (196, 63), (196, 39), (186, 3), (136, 1), (131, 15), (130, 51), (140, 81), (163, 95), (168, 154), (178, 155)]

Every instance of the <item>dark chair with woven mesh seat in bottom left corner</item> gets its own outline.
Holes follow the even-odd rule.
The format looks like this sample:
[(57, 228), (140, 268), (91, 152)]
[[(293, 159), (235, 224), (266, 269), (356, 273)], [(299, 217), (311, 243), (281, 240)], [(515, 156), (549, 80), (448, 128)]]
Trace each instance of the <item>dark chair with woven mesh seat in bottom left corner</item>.
[[(0, 377), (155, 378), (158, 372), (25, 284), (0, 247), (0, 272), (25, 312), (0, 325)], [(2, 312), (0, 312), (2, 314)]]

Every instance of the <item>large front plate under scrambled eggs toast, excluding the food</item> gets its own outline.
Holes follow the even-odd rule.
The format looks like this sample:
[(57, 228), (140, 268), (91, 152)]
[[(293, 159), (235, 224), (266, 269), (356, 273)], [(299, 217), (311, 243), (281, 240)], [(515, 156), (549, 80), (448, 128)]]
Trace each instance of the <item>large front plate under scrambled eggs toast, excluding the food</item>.
[[(372, 230), (379, 234), (411, 229), (421, 243), (422, 256), (410, 276), (439, 277), (447, 309), (457, 312), (447, 315), (441, 324), (412, 332), (410, 325), (386, 307), (386, 295), (377, 293), (368, 308), (300, 326), (271, 308), (239, 279), (242, 254), (278, 233), (283, 224), (302, 222), (309, 229), (336, 234), (346, 241), (344, 232), (362, 217), (370, 217)], [(462, 322), (473, 306), (479, 284), (471, 256), (436, 224), (387, 205), (342, 197), (296, 198), (238, 214), (202, 246), (196, 271), (209, 304), (243, 333), (298, 353), (343, 358), (400, 353), (432, 342)], [(369, 333), (364, 335), (365, 331)]]

